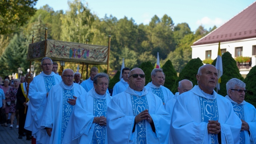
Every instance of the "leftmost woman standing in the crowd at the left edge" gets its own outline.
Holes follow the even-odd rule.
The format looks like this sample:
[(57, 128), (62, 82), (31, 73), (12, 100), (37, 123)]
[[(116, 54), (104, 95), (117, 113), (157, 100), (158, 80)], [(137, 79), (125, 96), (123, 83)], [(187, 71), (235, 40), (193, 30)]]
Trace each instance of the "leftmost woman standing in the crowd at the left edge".
[(4, 123), (4, 126), (7, 127), (7, 120), (8, 120), (8, 114), (9, 114), (9, 111), (10, 111), (10, 105), (11, 105), (11, 99), (10, 99), (10, 90), (11, 90), (11, 86), (9, 86), (9, 83), (10, 83), (10, 80), (8, 80), (7, 78), (4, 79), (3, 81), (3, 92), (4, 92), (4, 95), (5, 95), (5, 102), (6, 102), (6, 105), (5, 105), (5, 115), (6, 115), (6, 122)]

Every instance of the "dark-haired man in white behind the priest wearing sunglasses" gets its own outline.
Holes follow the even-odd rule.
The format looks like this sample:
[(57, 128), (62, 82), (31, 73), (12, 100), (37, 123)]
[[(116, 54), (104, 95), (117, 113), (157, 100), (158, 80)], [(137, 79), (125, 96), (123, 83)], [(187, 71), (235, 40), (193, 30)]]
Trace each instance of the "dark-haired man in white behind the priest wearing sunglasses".
[(129, 68), (122, 69), (123, 78), (121, 78), (121, 80), (114, 85), (112, 96), (115, 96), (116, 94), (123, 92), (127, 89), (127, 87), (129, 86), (127, 83), (129, 72), (130, 72)]

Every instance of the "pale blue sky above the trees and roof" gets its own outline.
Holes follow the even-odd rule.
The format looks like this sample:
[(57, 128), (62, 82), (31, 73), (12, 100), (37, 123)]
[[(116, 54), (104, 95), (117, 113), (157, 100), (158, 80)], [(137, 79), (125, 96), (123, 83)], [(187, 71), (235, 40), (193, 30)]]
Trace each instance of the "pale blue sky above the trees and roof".
[[(72, 1), (72, 0), (71, 0)], [(115, 16), (132, 18), (136, 24), (148, 24), (154, 15), (170, 16), (174, 25), (188, 23), (191, 31), (200, 25), (207, 30), (226, 23), (255, 0), (81, 0), (99, 18)], [(38, 0), (35, 7), (48, 4), (54, 11), (68, 11), (68, 0)]]

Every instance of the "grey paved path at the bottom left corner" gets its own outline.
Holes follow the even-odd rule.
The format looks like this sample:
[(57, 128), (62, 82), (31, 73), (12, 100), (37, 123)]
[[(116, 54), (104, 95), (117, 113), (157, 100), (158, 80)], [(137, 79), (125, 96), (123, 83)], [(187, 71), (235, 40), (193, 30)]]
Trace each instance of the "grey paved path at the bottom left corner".
[(13, 128), (0, 125), (0, 144), (31, 144), (31, 140), (26, 140), (26, 136), (22, 139), (18, 139), (18, 129), (16, 129), (16, 117), (13, 122)]

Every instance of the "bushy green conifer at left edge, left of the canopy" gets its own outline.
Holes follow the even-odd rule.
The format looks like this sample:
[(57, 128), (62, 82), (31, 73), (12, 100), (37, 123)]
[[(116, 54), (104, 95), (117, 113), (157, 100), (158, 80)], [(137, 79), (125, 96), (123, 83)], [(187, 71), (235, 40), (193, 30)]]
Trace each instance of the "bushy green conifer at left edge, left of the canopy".
[(0, 57), (0, 75), (10, 75), (17, 73), (17, 68), (22, 68), (26, 72), (29, 68), (27, 61), (28, 42), (23, 35), (15, 34), (3, 55)]

